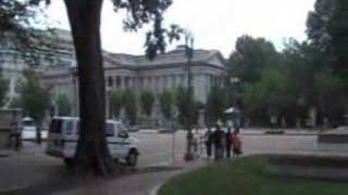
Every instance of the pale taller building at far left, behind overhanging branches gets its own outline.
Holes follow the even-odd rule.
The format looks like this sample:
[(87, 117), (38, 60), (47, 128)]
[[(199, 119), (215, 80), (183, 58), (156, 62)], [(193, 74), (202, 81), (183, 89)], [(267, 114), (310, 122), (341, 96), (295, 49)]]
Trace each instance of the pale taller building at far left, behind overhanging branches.
[[(34, 50), (24, 50), (23, 46), (13, 41), (12, 35), (7, 34), (0, 39), (0, 69), (2, 77), (9, 81), (8, 106), (18, 98), (17, 83), (23, 79), (25, 69), (34, 69), (44, 74), (49, 67), (72, 66), (75, 62), (71, 34), (55, 29), (54, 35), (41, 34), (42, 46)], [(45, 42), (45, 43), (44, 43)]]

